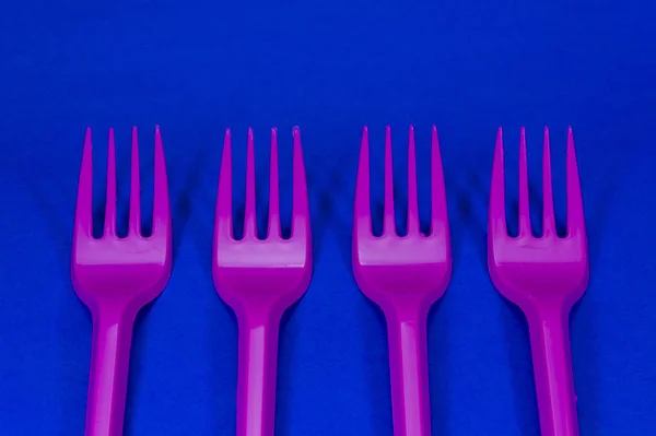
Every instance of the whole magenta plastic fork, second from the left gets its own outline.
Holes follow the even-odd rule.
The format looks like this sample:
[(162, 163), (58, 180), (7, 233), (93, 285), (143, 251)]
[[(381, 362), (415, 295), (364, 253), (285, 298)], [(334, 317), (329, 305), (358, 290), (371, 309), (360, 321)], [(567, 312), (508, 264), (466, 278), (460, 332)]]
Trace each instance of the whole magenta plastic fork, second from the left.
[(255, 151), (248, 129), (244, 236), (232, 223), (232, 145), (225, 132), (214, 221), (212, 275), (238, 323), (237, 436), (272, 436), (276, 411), (278, 332), (285, 309), (300, 299), (312, 276), (312, 240), (301, 133), (293, 130), (292, 233), (280, 229), (278, 134), (271, 130), (269, 229), (258, 238)]

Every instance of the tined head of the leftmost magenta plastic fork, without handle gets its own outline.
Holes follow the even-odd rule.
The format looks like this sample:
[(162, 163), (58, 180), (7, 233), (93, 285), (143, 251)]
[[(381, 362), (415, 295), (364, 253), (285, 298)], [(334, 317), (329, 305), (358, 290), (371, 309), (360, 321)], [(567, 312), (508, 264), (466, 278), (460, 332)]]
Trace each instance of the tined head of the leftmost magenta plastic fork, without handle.
[(92, 311), (102, 304), (137, 310), (164, 288), (172, 268), (172, 229), (166, 164), (160, 128), (155, 128), (155, 169), (152, 235), (141, 234), (139, 149), (132, 129), (129, 233), (116, 233), (116, 150), (109, 130), (107, 199), (101, 238), (93, 236), (92, 145), (86, 130), (73, 229), (71, 275), (73, 287)]

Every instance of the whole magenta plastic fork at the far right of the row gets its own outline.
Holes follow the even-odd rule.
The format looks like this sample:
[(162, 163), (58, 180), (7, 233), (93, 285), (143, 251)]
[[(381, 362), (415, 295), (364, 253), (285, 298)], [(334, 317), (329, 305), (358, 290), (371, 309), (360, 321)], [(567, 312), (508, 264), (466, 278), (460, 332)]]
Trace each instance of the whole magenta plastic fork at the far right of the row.
[(528, 321), (542, 435), (574, 436), (578, 435), (578, 422), (569, 315), (587, 287), (589, 264), (572, 129), (567, 131), (565, 237), (559, 237), (555, 231), (548, 129), (544, 129), (542, 157), (541, 237), (534, 237), (531, 234), (526, 161), (526, 135), (522, 129), (519, 232), (516, 237), (509, 237), (505, 219), (503, 140), (500, 128), (490, 190), (488, 264), (494, 286), (522, 308)]

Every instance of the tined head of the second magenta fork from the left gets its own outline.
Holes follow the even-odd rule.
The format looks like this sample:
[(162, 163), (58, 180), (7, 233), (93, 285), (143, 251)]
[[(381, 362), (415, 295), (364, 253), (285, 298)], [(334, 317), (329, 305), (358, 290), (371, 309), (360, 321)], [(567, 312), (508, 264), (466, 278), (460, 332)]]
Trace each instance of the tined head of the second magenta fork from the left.
[(292, 232), (283, 239), (280, 229), (278, 180), (278, 133), (271, 130), (269, 184), (269, 226), (260, 239), (256, 226), (255, 145), (248, 129), (246, 151), (246, 204), (244, 236), (235, 239), (232, 217), (232, 144), (226, 130), (214, 219), (212, 276), (221, 298), (237, 315), (254, 307), (280, 314), (307, 290), (312, 276), (312, 238), (305, 166), (301, 133), (293, 130), (293, 210)]

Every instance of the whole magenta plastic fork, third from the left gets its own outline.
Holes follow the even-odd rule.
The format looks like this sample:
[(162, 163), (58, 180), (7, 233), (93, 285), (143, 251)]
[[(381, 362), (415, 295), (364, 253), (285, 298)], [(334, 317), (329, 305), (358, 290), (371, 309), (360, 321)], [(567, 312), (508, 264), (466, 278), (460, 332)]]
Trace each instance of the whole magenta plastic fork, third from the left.
[(414, 129), (408, 149), (408, 234), (398, 236), (394, 214), (391, 131), (385, 137), (385, 205), (383, 235), (372, 232), (370, 145), (364, 128), (355, 187), (353, 273), (361, 291), (385, 314), (395, 436), (431, 434), (426, 318), (442, 297), (452, 272), (446, 193), (437, 130), (431, 158), (431, 234), (420, 232), (417, 199)]

